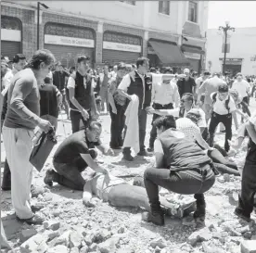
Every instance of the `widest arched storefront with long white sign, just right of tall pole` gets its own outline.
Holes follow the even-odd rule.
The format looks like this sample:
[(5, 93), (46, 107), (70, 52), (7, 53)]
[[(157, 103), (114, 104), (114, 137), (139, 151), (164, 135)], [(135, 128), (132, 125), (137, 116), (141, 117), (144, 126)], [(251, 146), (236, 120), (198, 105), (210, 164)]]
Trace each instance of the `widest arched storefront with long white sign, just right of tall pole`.
[(65, 67), (76, 66), (77, 57), (90, 57), (95, 63), (95, 32), (89, 28), (58, 23), (45, 24), (45, 49)]

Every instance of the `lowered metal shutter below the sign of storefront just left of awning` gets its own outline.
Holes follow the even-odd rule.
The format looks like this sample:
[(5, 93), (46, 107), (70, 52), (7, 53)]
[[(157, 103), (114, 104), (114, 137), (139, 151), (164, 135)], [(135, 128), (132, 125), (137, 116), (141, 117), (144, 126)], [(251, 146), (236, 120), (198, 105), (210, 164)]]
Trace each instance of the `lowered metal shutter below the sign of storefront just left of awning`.
[(121, 61), (132, 64), (135, 63), (140, 56), (140, 53), (103, 49), (102, 61), (109, 64), (116, 64)]

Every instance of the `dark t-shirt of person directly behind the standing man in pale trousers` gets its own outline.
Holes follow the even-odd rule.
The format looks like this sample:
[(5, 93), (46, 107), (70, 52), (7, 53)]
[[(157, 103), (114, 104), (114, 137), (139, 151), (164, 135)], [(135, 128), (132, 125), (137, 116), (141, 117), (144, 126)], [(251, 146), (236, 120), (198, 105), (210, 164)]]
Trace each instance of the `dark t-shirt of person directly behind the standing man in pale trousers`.
[(40, 116), (51, 115), (58, 118), (58, 88), (52, 84), (40, 85)]

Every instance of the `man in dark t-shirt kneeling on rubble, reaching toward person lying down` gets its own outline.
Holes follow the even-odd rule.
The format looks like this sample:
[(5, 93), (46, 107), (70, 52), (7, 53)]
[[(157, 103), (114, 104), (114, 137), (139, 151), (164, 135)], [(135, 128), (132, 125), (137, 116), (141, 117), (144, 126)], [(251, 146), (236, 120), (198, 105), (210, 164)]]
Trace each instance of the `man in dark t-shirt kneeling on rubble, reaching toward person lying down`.
[(53, 182), (74, 190), (83, 191), (84, 179), (81, 172), (88, 166), (103, 174), (108, 171), (99, 166), (96, 161), (96, 151), (99, 149), (104, 155), (114, 156), (111, 148), (102, 145), (100, 134), (102, 127), (99, 122), (91, 121), (88, 128), (77, 133), (71, 134), (58, 149), (53, 158), (53, 165), (56, 171), (46, 171), (45, 184), (51, 186)]

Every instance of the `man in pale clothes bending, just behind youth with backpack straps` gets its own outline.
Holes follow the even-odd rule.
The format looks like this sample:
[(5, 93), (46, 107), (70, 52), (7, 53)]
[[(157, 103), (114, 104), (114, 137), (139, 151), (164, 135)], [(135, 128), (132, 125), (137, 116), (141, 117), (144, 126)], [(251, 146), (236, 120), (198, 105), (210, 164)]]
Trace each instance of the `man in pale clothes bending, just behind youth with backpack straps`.
[[(210, 79), (207, 79), (201, 84), (198, 89), (198, 104), (203, 104), (203, 110), (205, 112), (206, 122), (211, 119), (211, 110), (212, 110), (212, 99), (211, 94), (216, 93), (220, 85), (224, 84), (224, 80), (220, 78), (218, 73), (214, 73)], [(204, 102), (201, 103), (201, 95), (204, 94)]]

